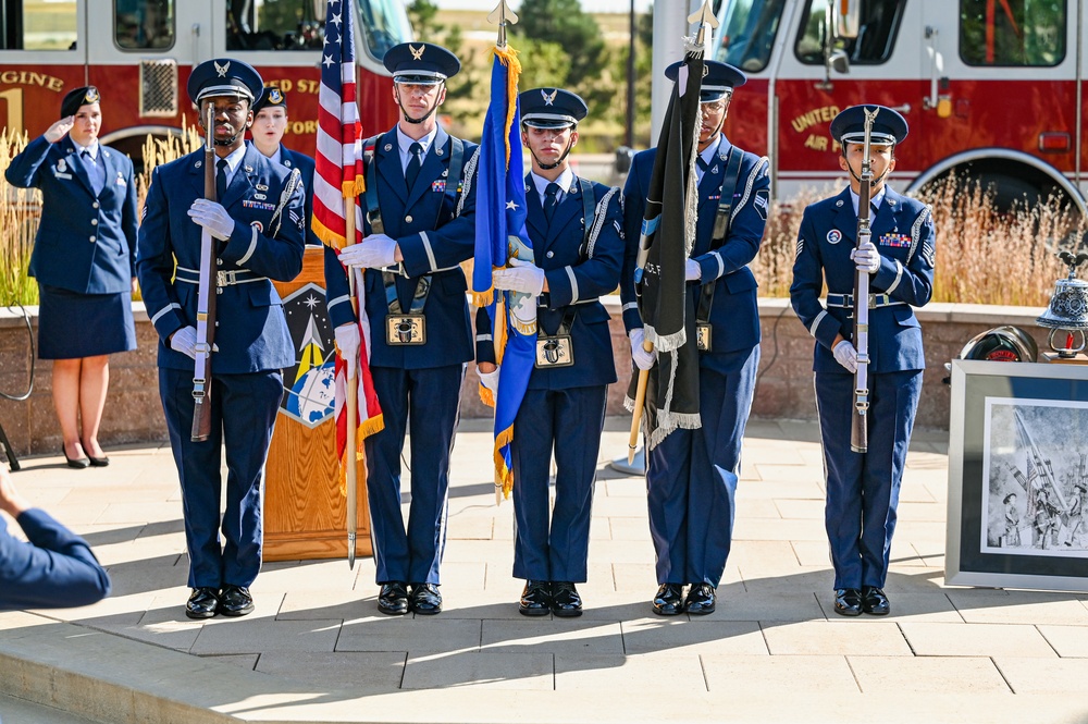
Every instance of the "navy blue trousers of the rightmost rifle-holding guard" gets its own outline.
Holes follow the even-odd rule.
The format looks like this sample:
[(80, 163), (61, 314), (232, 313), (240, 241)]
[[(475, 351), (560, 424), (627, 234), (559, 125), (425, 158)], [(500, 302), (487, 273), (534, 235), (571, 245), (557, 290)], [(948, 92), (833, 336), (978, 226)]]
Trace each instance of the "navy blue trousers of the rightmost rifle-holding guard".
[(922, 370), (869, 375), (866, 453), (850, 450), (854, 376), (819, 372), (815, 378), (834, 588), (882, 588)]

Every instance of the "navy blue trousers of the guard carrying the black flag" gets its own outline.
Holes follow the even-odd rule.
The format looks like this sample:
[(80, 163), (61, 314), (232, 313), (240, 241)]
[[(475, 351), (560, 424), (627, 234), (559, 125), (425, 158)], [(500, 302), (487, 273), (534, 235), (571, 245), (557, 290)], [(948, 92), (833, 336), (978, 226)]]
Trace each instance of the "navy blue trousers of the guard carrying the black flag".
[[(698, 370), (702, 428), (676, 430), (647, 455), (650, 533), (657, 551), (658, 584), (717, 587), (726, 569), (759, 347), (717, 357), (724, 366)], [(730, 371), (719, 371), (722, 368)]]

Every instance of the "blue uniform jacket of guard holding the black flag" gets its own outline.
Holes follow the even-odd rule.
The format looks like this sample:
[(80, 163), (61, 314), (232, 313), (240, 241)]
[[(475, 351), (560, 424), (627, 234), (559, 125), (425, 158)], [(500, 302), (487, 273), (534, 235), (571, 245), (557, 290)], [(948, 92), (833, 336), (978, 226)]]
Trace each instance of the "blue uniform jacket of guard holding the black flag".
[[(690, 282), (688, 293), (696, 294), (703, 284), (715, 284), (714, 305), (709, 315), (710, 352), (700, 354), (700, 365), (703, 367), (714, 367), (717, 355), (754, 347), (761, 339), (757, 299), (759, 285), (747, 265), (759, 251), (767, 225), (769, 163), (766, 158), (737, 149), (744, 156), (733, 194), (732, 222), (725, 242), (712, 251), (714, 220), (718, 212), (721, 182), (726, 175), (726, 158), (730, 148), (732, 145), (721, 136), (718, 159), (703, 174), (698, 184), (698, 221), (691, 258), (698, 262), (702, 279), (698, 283)], [(634, 294), (634, 267), (642, 218), (646, 211), (646, 195), (650, 193), (650, 176), (656, 156), (656, 148), (635, 154), (623, 188), (627, 255), (620, 277), (620, 294), (623, 302), (623, 324), (628, 331), (642, 327)]]

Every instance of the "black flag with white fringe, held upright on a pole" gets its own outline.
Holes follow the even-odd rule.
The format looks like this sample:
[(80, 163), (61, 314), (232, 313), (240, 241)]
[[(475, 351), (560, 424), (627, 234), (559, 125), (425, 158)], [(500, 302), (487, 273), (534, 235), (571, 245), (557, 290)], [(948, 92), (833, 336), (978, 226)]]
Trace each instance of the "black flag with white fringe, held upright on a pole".
[[(643, 415), (650, 450), (677, 428), (701, 426), (695, 295), (687, 293), (684, 262), (695, 242), (702, 81), (703, 48), (689, 46), (657, 140), (642, 221), (635, 291), (646, 340), (657, 349)], [(636, 385), (638, 376), (631, 380), (630, 401), (635, 398)]]

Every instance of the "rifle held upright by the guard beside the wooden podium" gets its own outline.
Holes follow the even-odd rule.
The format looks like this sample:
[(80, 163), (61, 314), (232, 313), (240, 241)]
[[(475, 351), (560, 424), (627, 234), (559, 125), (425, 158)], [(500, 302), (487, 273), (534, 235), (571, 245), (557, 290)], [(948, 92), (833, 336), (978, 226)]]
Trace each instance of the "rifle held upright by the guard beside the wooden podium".
[[(217, 201), (215, 194), (215, 110), (209, 102), (205, 111), (205, 198)], [(193, 370), (193, 442), (211, 434), (211, 352), (215, 343), (215, 240), (200, 230), (200, 284), (197, 291), (197, 344)]]

